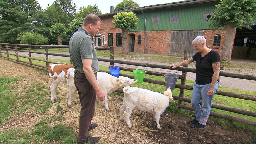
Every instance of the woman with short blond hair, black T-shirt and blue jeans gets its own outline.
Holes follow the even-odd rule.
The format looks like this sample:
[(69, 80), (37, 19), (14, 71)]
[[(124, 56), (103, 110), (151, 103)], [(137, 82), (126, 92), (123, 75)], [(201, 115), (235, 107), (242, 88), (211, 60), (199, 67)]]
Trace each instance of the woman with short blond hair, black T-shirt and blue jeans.
[[(171, 64), (169, 67), (177, 68), (196, 61), (196, 80), (192, 91), (192, 107), (196, 119), (189, 121), (192, 128), (204, 128), (212, 107), (212, 99), (218, 89), (218, 76), (220, 73), (220, 55), (215, 50), (206, 47), (204, 36), (197, 36), (192, 41), (196, 54), (190, 59), (178, 65)], [(203, 113), (200, 101), (202, 100)]]

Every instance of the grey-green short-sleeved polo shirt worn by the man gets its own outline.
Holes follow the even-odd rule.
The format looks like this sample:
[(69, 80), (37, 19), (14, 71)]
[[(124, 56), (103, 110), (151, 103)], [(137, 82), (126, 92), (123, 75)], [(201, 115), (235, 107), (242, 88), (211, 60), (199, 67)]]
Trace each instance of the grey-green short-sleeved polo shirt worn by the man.
[(80, 73), (84, 73), (82, 59), (92, 58), (92, 70), (99, 71), (97, 52), (92, 41), (92, 37), (84, 28), (78, 28), (70, 38), (69, 53), (74, 67)]

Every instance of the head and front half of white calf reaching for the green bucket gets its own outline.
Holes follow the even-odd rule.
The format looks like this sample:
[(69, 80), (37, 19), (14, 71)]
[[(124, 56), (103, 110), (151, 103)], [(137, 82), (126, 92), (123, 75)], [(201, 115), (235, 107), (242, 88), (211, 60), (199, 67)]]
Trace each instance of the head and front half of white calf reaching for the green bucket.
[(129, 86), (129, 85), (137, 82), (134, 79), (131, 79), (128, 77), (119, 76), (117, 78), (115, 76), (112, 76), (108, 73), (103, 73), (103, 72), (97, 72), (97, 81), (98, 81), (101, 89), (105, 92), (105, 100), (102, 101), (101, 104), (102, 104), (102, 106), (105, 106), (107, 111), (109, 111), (107, 95), (110, 92), (113, 92), (120, 87)]

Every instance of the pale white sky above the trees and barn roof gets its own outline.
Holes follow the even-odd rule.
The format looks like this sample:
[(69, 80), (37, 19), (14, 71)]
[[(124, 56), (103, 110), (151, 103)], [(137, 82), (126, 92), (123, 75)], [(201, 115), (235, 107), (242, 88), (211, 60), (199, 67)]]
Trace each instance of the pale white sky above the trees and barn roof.
[[(48, 5), (53, 4), (55, 0), (37, 0), (42, 9), (46, 9)], [(86, 7), (88, 5), (98, 6), (98, 8), (102, 11), (102, 14), (109, 13), (110, 6), (116, 7), (117, 4), (121, 3), (123, 0), (73, 0), (73, 3), (76, 4), (76, 10), (79, 7)], [(149, 5), (156, 5), (156, 4), (166, 4), (172, 2), (178, 2), (183, 0), (133, 0), (140, 7), (149, 6)]]

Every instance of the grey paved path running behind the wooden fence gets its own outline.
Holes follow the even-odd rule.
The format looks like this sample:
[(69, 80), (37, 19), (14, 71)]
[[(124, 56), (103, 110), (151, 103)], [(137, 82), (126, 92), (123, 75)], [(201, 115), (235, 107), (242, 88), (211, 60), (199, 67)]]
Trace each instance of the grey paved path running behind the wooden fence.
[[(10, 51), (10, 53), (15, 54), (15, 52), (13, 52), (13, 51)], [(69, 54), (69, 53), (68, 52), (63, 52), (61, 54)], [(28, 56), (28, 53), (27, 52), (19, 52), (19, 55), (27, 55)], [(31, 53), (31, 55), (36, 56), (36, 57), (45, 57), (45, 55), (43, 55), (43, 54)], [(52, 55), (49, 55), (49, 58), (70, 60), (70, 58), (68, 58), (68, 57), (60, 57), (60, 56), (52, 56)], [(101, 57), (101, 56), (98, 56), (98, 58), (110, 59), (109, 57)], [(115, 60), (152, 63), (152, 64), (158, 64), (158, 65), (169, 65), (168, 63), (142, 61), (142, 60), (128, 60), (128, 59), (124, 59), (124, 58), (115, 58)], [(103, 66), (109, 66), (109, 62), (99, 61), (99, 64), (103, 65)], [(161, 68), (149, 68), (149, 67), (125, 65), (125, 64), (118, 64), (118, 63), (114, 63), (114, 65), (121, 66), (121, 67), (127, 67), (127, 68), (144, 69), (144, 70), (150, 70), (150, 71), (156, 71), (156, 72), (181, 74), (181, 71), (176, 71), (176, 70), (168, 70), (168, 69), (161, 69)], [(233, 73), (236, 73), (236, 72), (233, 71)], [(196, 79), (196, 74), (188, 72), (187, 73), (187, 79), (188, 80), (195, 80)], [(253, 80), (244, 80), (244, 79), (239, 79), (239, 78), (230, 78), (230, 77), (223, 77), (222, 76), (221, 85), (223, 87), (227, 87), (227, 88), (231, 88), (231, 89), (240, 89), (240, 90), (244, 90), (244, 91), (256, 91), (256, 81), (253, 81)]]

